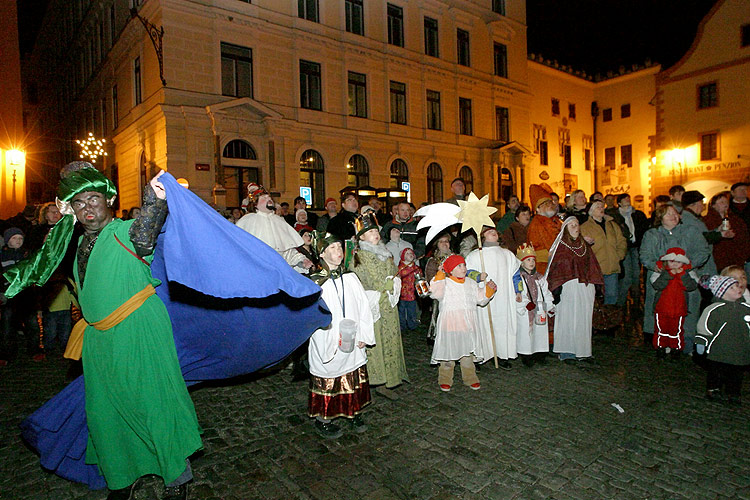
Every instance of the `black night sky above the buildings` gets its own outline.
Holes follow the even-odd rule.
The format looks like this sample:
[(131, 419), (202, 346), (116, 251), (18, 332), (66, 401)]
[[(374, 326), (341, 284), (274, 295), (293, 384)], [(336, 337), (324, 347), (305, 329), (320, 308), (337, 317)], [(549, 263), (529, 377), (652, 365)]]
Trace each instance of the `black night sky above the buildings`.
[[(22, 53), (49, 0), (18, 0)], [(589, 74), (646, 59), (667, 68), (690, 48), (714, 0), (527, 0), (529, 53)]]

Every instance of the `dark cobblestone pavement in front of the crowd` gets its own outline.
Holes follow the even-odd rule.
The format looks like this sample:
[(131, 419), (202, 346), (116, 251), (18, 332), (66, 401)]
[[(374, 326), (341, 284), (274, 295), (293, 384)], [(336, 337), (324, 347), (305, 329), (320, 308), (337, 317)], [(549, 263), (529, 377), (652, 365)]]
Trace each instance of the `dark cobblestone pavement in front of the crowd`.
[[(192, 391), (205, 452), (193, 499), (750, 499), (750, 396), (703, 398), (690, 361), (657, 362), (620, 338), (595, 337), (596, 366), (549, 358), (510, 371), (486, 364), (482, 389), (437, 386), (421, 334), (404, 339), (411, 384), (373, 392), (364, 434), (319, 438), (307, 385), (288, 370)], [(18, 424), (64, 385), (66, 364), (0, 371), (0, 498), (103, 499), (43, 471)], [(612, 403), (619, 404), (620, 413)], [(136, 498), (157, 499), (148, 478)]]

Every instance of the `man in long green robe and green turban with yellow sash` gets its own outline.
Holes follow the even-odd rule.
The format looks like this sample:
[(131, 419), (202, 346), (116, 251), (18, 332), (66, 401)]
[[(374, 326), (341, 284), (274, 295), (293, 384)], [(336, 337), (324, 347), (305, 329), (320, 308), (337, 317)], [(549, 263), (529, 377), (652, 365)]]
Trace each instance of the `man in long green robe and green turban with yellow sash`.
[[(59, 261), (53, 261), (70, 239), (75, 216), (84, 229), (74, 278), (85, 320), (86, 462), (96, 464), (106, 479), (108, 500), (133, 498), (138, 479), (147, 474), (163, 478), (162, 498), (187, 498), (188, 457), (202, 448), (169, 315), (154, 294), (159, 281), (149, 269), (167, 215), (158, 177), (146, 186), (141, 216), (123, 221), (113, 218), (117, 193), (109, 179), (86, 162), (66, 166), (57, 202), (66, 215), (35, 266), (57, 267)], [(16, 279), (11, 287), (23, 282)]]

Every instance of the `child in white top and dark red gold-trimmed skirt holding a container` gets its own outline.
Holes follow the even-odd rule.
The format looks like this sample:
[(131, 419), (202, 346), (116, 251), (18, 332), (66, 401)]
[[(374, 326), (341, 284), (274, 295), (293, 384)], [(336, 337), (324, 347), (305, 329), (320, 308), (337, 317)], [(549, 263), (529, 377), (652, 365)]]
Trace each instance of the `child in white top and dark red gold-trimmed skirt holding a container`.
[[(316, 241), (323, 270), (312, 276), (322, 289), (322, 298), (331, 311), (327, 328), (315, 330), (310, 337), (310, 398), (308, 414), (315, 417), (315, 430), (325, 438), (341, 436), (341, 428), (334, 418), (349, 419), (354, 432), (367, 429), (361, 412), (370, 403), (370, 383), (367, 376), (365, 347), (375, 344), (372, 312), (365, 290), (354, 273), (344, 273), (341, 261), (344, 251), (341, 242), (327, 234)], [(353, 320), (357, 326), (354, 349), (342, 350), (339, 326), (343, 319)]]

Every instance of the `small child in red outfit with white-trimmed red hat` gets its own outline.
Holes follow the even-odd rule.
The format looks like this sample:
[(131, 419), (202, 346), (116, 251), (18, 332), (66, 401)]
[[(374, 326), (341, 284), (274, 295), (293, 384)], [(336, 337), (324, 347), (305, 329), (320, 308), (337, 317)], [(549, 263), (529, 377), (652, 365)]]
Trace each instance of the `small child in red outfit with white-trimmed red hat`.
[(657, 272), (651, 277), (651, 286), (656, 290), (653, 344), (660, 359), (670, 352), (678, 358), (684, 346), (687, 292), (698, 288), (690, 267), (685, 250), (672, 247), (656, 263)]

